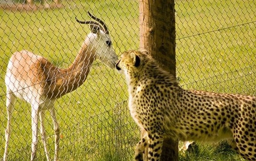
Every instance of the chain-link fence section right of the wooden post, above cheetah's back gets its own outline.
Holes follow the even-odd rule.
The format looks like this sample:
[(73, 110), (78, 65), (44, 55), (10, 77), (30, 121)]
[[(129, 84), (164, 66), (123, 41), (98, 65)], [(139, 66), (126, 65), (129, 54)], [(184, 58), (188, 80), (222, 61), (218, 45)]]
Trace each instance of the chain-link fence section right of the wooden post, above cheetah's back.
[(256, 3), (176, 1), (177, 76), (184, 88), (256, 95)]

